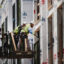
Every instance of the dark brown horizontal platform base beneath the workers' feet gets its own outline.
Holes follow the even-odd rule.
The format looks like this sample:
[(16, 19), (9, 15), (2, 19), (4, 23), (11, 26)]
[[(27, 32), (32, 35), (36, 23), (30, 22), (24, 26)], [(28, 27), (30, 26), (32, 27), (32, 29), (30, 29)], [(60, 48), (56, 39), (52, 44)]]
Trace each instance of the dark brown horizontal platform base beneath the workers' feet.
[(32, 58), (34, 57), (35, 52), (34, 51), (22, 51), (22, 52), (11, 52), (7, 55), (2, 55), (0, 58), (8, 58), (8, 59), (15, 59), (15, 58)]

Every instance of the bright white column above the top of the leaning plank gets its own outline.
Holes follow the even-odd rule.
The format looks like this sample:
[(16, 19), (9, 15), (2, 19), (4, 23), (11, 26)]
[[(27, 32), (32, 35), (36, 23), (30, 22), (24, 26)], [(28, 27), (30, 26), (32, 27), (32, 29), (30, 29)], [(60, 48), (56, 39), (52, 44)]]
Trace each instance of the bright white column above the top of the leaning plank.
[(12, 2), (8, 2), (8, 31), (13, 31), (13, 22), (12, 22)]

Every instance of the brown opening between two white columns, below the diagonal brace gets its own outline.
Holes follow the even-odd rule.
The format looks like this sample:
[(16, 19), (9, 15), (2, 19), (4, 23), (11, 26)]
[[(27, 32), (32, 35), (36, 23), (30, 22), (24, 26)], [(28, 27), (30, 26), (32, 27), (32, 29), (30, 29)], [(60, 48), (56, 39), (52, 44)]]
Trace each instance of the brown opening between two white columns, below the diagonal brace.
[(48, 18), (48, 61), (53, 64), (53, 30), (52, 30), (52, 16)]

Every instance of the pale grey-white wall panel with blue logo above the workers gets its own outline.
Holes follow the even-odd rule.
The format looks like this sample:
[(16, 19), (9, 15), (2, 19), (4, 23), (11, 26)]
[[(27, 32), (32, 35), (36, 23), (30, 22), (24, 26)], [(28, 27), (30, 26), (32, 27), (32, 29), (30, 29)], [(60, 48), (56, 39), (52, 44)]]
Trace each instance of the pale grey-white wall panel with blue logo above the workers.
[[(22, 23), (30, 23), (33, 21), (33, 1), (22, 1), (21, 21)], [(27, 15), (23, 15), (26, 13)]]

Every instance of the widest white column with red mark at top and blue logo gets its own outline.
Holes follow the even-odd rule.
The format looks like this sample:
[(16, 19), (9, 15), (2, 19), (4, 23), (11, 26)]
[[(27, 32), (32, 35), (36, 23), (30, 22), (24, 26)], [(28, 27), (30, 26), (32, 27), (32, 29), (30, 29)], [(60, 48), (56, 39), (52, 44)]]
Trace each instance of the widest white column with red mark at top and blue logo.
[(40, 29), (40, 50), (41, 50), (41, 56), (40, 56), (40, 64), (48, 64), (48, 24), (47, 24), (47, 0), (40, 0), (41, 4), (41, 29)]

